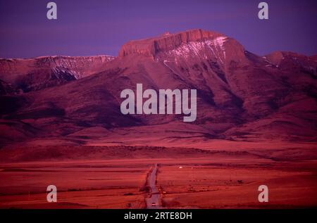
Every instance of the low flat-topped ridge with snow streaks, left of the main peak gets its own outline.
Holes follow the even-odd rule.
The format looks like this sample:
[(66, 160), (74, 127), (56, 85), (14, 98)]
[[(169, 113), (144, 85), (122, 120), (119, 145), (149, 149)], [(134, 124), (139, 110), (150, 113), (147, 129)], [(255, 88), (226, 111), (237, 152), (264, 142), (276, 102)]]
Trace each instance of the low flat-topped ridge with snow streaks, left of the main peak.
[[(1, 89), (11, 84), (15, 91), (34, 91), (87, 77), (106, 68), (113, 56), (42, 56), (30, 59), (0, 59)], [(4, 94), (1, 91), (1, 94)]]

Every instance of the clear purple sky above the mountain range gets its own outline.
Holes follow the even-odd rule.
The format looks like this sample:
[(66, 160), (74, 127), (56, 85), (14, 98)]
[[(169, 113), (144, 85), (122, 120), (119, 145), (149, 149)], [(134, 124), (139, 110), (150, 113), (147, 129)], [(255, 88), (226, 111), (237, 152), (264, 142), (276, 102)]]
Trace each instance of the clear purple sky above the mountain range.
[(237, 39), (253, 53), (317, 54), (317, 1), (274, 0), (259, 20), (260, 0), (0, 0), (0, 57), (117, 56), (132, 39), (201, 28)]

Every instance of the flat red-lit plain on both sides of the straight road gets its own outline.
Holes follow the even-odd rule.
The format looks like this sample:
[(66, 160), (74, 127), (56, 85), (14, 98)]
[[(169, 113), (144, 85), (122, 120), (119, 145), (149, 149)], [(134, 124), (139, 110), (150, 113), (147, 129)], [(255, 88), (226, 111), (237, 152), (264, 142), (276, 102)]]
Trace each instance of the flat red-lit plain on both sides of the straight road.
[[(272, 151), (198, 150), (178, 158), (180, 151), (165, 148), (164, 153), (172, 151), (169, 158), (149, 158), (142, 157), (144, 150), (125, 151), (139, 158), (2, 163), (0, 208), (147, 208), (147, 178), (156, 163), (162, 208), (317, 207), (317, 160), (311, 155), (299, 159), (285, 149), (288, 160), (282, 160), (268, 155)], [(57, 203), (46, 202), (51, 184), (57, 187)], [(268, 203), (258, 200), (262, 184), (268, 186)]]

